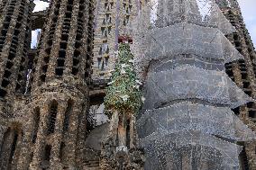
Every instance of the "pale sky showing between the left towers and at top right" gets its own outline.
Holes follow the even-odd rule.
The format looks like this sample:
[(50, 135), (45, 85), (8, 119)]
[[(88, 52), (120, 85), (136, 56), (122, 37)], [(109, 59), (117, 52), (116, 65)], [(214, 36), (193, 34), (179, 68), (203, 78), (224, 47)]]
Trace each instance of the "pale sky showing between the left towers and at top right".
[[(251, 40), (254, 43), (254, 47), (256, 47), (256, 0), (238, 0), (241, 10), (242, 10), (242, 16), (244, 19), (244, 22), (246, 24), (246, 28), (250, 32)], [(42, 2), (40, 0), (34, 0), (34, 3), (36, 4), (34, 8), (34, 12), (45, 10), (46, 7), (48, 7), (48, 3)], [(33, 37), (37, 37), (37, 31), (32, 32)], [(32, 46), (36, 43), (36, 38), (32, 41)]]

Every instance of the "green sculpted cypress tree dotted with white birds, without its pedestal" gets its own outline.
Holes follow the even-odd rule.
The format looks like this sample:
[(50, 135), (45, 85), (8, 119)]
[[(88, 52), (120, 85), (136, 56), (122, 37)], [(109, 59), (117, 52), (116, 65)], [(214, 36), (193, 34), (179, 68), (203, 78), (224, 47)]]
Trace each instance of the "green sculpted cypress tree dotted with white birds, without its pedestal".
[(128, 43), (121, 43), (118, 51), (118, 62), (113, 71), (112, 82), (105, 96), (106, 110), (119, 112), (138, 112), (142, 105), (142, 93), (134, 71), (133, 54)]

